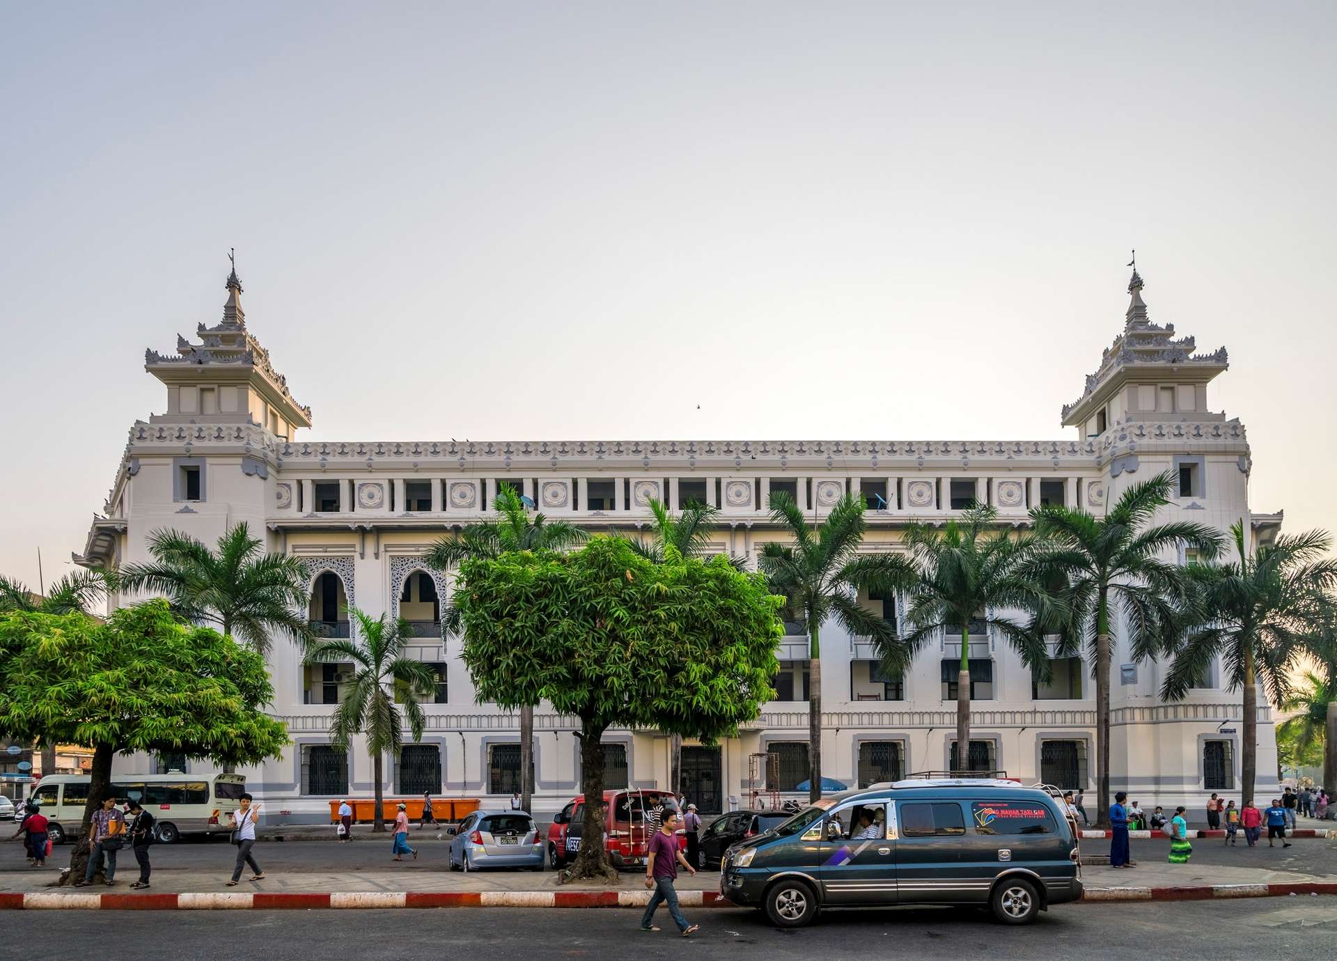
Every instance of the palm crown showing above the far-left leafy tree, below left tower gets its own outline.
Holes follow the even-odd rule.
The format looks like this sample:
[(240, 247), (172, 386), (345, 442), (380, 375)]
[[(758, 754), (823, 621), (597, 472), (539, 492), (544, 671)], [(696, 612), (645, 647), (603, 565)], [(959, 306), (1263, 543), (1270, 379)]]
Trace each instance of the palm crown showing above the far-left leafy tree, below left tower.
[(305, 613), (310, 596), (302, 561), (266, 553), (246, 524), (230, 527), (217, 551), (180, 531), (152, 531), (148, 553), (151, 563), (116, 572), (122, 589), (164, 595), (179, 616), (217, 624), (259, 654), (269, 654), (275, 634), (302, 647), (316, 639)]

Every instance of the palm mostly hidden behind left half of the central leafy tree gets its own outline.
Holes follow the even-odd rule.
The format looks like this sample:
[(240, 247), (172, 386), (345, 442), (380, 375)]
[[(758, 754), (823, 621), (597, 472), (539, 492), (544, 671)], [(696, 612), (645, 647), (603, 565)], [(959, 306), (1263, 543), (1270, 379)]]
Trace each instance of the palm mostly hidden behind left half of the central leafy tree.
[[(532, 517), (520, 495), (509, 484), (497, 488), (493, 520), (469, 524), (439, 540), (424, 559), (439, 571), (449, 571), (467, 559), (492, 559), (509, 551), (560, 551), (579, 544), (586, 532), (567, 521), (550, 521), (541, 513)], [(461, 630), (460, 613), (452, 600), (441, 616), (449, 634)], [(520, 708), (520, 805), (529, 810), (533, 797), (533, 706)]]

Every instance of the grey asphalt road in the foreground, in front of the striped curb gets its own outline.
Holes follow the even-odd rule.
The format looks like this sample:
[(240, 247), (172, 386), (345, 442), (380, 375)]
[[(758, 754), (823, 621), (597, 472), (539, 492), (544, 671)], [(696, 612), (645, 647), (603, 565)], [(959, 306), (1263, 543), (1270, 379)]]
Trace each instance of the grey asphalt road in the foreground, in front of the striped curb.
[(638, 933), (631, 910), (345, 910), (345, 912), (7, 912), (0, 958), (136, 957), (170, 961), (421, 961), (495, 958), (719, 958), (860, 961), (902, 956), (1173, 957), (1259, 961), (1330, 957), (1337, 898), (1261, 898), (1170, 905), (1063, 905), (1028, 928), (948, 908), (830, 913), (801, 930), (771, 928), (749, 910), (687, 912), (702, 925), (679, 938), (660, 912), (658, 934)]

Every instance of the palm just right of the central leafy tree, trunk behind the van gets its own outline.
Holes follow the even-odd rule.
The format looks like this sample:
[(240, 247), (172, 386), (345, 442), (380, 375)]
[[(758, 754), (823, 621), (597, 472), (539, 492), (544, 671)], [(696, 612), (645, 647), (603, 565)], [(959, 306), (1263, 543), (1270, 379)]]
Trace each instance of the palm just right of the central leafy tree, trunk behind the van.
[(900, 555), (858, 555), (868, 521), (864, 499), (846, 495), (826, 519), (810, 528), (794, 499), (771, 495), (771, 520), (789, 532), (792, 543), (762, 545), (758, 564), (771, 589), (787, 599), (789, 609), (802, 613), (809, 639), (808, 762), (809, 798), (822, 794), (822, 646), (821, 627), (834, 617), (846, 631), (866, 636), (882, 654), (884, 664), (904, 668), (909, 651), (896, 627), (860, 607), (860, 588), (889, 593), (913, 579), (913, 569)]

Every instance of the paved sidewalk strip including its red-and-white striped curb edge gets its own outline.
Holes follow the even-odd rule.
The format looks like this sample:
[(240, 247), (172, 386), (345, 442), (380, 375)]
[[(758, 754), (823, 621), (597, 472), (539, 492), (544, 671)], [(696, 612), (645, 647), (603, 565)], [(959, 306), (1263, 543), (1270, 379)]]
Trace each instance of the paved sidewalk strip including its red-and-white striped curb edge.
[[(12, 873), (0, 881), (0, 909), (312, 909), (312, 908), (639, 908), (650, 891), (639, 871), (603, 882), (558, 885), (552, 871), (427, 870), (294, 871), (226, 887), (226, 871), (155, 870), (148, 891), (130, 890), (134, 870), (112, 889), (45, 887), (55, 871)], [(1170, 865), (1144, 858), (1134, 869), (1082, 869), (1084, 901), (1183, 901), (1337, 894), (1337, 874), (1219, 865)], [(719, 897), (719, 874), (682, 874), (685, 906), (731, 908)]]

